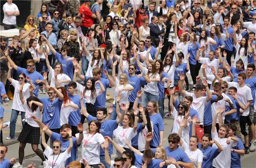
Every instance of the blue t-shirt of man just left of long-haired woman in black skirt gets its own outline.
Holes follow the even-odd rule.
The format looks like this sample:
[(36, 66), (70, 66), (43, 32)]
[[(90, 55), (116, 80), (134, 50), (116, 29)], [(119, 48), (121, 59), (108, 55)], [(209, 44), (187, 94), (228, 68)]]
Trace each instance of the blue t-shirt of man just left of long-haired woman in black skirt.
[[(73, 101), (73, 103), (77, 104), (77, 106), (78, 106), (78, 109), (76, 111), (73, 111), (72, 113), (69, 114), (69, 116), (68, 116), (68, 124), (77, 127), (78, 123), (80, 123), (80, 121), (81, 121), (80, 95), (76, 94), (75, 96), (72, 96), (68, 92), (68, 97), (70, 98), (71, 101)], [(84, 101), (84, 99), (83, 99), (83, 101)]]

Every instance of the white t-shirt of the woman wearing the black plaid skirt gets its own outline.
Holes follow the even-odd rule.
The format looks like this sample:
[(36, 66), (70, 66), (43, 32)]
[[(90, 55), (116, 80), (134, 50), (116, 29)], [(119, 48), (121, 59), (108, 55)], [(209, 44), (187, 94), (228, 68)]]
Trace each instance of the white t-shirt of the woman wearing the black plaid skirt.
[(28, 122), (28, 124), (32, 127), (39, 127), (39, 125), (37, 124), (37, 122), (34, 121), (33, 118), (31, 118), (31, 115), (36, 116), (36, 118), (38, 120), (41, 119), (42, 116), (42, 112), (44, 111), (44, 108), (42, 108), (42, 111), (40, 111), (40, 108), (36, 108), (36, 110), (34, 112), (32, 112), (31, 108), (29, 108), (27, 101), (25, 101), (24, 104), (22, 104), (23, 108), (25, 109), (25, 122)]

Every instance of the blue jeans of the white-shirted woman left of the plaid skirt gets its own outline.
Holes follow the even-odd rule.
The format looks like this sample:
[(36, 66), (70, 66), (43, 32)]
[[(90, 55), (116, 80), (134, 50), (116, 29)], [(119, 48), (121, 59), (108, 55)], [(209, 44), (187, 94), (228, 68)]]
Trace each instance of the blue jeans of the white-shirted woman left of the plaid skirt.
[[(25, 118), (26, 112), (12, 109), (12, 114), (10, 119), (10, 135), (9, 135), (11, 139), (15, 139), (15, 127), (16, 127), (16, 121), (17, 121), (19, 112), (21, 113), (21, 120), (23, 120)], [(22, 121), (22, 127), (24, 126), (24, 124), (25, 124), (25, 121)]]

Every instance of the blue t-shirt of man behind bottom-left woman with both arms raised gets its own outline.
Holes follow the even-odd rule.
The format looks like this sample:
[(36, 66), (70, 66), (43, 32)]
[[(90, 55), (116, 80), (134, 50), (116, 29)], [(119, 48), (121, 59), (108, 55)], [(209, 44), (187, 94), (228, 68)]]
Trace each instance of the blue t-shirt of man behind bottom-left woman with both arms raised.
[[(61, 151), (65, 152), (66, 149), (68, 149), (69, 146), (69, 139), (68, 140), (63, 140), (61, 135), (56, 133), (56, 132), (52, 132), (52, 136), (51, 136), (51, 140), (55, 141), (55, 140), (59, 140), (61, 142)], [(73, 140), (73, 147), (71, 149), (71, 157), (69, 157), (66, 161), (65, 167), (73, 161), (76, 161), (76, 150), (78, 148), (78, 144), (76, 142), (76, 138), (72, 138)], [(80, 144), (79, 144), (80, 145)]]

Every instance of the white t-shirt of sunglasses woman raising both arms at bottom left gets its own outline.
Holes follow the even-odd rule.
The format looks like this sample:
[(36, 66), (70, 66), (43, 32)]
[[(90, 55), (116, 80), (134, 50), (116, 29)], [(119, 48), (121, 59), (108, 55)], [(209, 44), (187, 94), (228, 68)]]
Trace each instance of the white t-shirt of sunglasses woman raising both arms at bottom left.
[(44, 150), (44, 155), (48, 158), (48, 166), (47, 168), (62, 168), (65, 167), (66, 160), (71, 157), (71, 151), (68, 153), (68, 150), (65, 152), (61, 152), (60, 155), (52, 155), (53, 149), (49, 146)]

